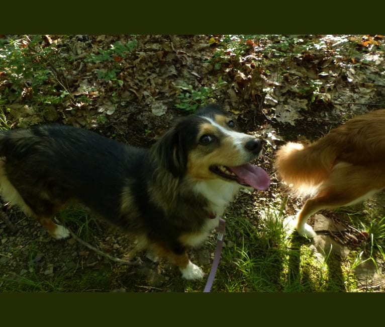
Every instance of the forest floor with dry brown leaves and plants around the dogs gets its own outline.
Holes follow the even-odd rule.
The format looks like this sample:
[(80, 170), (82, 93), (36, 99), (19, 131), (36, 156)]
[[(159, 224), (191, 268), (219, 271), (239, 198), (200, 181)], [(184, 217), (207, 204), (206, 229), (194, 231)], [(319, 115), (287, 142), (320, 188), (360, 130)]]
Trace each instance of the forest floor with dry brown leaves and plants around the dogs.
[[(6, 35), (0, 41), (0, 55), (6, 58), (0, 63), (3, 128), (60, 122), (148, 147), (175, 118), (198, 106), (220, 103), (243, 132), (266, 140), (257, 163), (271, 176), (270, 188), (241, 193), (226, 213), (256, 226), (261, 225), (260, 212), (266, 208), (282, 208), (284, 203), (287, 216), (303, 204), (303, 199), (283, 191), (273, 171), (279, 145), (317, 140), (357, 114), (385, 108), (381, 35)], [(320, 232), (312, 243), (302, 242), (315, 257), (325, 257), (319, 246), (328, 251), (330, 244), (341, 258), (352, 252), (365, 255), (370, 239), (362, 238), (357, 226), (351, 227), (351, 216), (362, 211), (384, 217), (384, 202), (381, 193), (353, 211), (322, 211), (310, 224), (320, 231), (336, 231), (337, 225), (339, 237)], [(71, 215), (85, 217), (86, 223), (71, 223), (72, 216), (65, 212), (58, 218), (69, 221), (73, 231), (100, 252), (129, 258), (137, 265), (112, 261), (74, 237), (54, 240), (16, 208), (4, 210), (17, 228), (12, 232), (0, 219), (0, 289), (4, 291), (204, 289), (206, 279), (183, 281), (168, 263), (154, 263), (143, 253), (129, 258), (133, 241), (94, 220), (85, 209), (73, 209)], [(232, 221), (228, 228), (241, 235), (235, 224)], [(190, 251), (191, 260), (206, 273), (215, 236), (213, 232), (203, 247)], [(231, 248), (234, 242), (229, 239), (225, 246)], [(384, 291), (381, 256), (376, 257), (376, 265), (367, 260), (359, 268), (349, 268), (354, 270), (354, 286), (342, 281), (339, 291)], [(226, 268), (220, 265), (221, 269)], [(230, 291), (221, 283), (214, 290)], [(235, 290), (265, 291), (247, 282)], [(273, 289), (277, 290), (287, 289), (281, 285)]]

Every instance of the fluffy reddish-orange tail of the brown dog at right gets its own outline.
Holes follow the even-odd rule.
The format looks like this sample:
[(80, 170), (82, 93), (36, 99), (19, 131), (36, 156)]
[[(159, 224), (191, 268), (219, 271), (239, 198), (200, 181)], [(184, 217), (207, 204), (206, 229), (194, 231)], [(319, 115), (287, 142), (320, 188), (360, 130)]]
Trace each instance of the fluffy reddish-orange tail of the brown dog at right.
[(311, 194), (330, 174), (338, 146), (320, 139), (311, 145), (288, 142), (276, 155), (275, 169), (287, 186), (300, 195)]

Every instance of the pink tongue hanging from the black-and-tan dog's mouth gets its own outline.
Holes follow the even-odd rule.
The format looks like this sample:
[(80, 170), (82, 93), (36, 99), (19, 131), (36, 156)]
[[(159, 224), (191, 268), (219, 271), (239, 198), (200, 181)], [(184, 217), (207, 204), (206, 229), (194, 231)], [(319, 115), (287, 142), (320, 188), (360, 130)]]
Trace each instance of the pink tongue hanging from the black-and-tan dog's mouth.
[(243, 184), (252, 186), (256, 190), (266, 190), (270, 186), (270, 177), (260, 167), (246, 163), (246, 165), (228, 167)]

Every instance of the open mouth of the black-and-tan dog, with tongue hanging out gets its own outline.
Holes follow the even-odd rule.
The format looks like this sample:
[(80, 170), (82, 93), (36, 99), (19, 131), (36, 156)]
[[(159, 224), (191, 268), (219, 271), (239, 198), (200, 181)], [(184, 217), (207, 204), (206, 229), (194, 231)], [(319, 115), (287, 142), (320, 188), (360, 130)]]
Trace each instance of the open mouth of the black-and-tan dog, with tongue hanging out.
[(242, 166), (212, 166), (210, 170), (227, 180), (236, 181), (244, 186), (251, 186), (256, 190), (266, 190), (270, 186), (270, 177), (260, 167), (251, 163)]

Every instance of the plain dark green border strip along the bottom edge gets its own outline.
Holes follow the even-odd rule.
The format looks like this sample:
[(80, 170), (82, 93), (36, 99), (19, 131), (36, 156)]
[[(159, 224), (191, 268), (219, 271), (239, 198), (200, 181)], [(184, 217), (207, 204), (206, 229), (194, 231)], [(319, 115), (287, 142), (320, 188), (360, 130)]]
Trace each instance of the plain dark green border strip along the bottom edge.
[[(384, 293), (0, 294), (5, 325), (332, 324), (376, 321)], [(371, 317), (371, 318), (369, 318)], [(378, 317), (377, 317), (378, 318)]]

